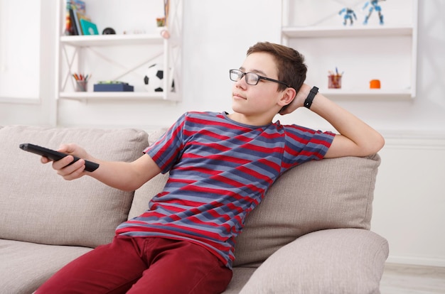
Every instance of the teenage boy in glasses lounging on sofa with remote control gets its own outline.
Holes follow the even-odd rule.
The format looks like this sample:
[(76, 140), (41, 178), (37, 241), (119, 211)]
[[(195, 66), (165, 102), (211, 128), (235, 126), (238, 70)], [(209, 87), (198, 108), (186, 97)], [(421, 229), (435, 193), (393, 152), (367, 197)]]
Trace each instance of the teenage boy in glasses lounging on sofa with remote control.
[[(294, 49), (257, 43), (230, 79), (232, 113), (183, 114), (132, 163), (92, 158), (75, 144), (60, 147), (100, 163), (86, 173), (84, 160), (54, 162), (65, 180), (90, 175), (136, 190), (159, 173), (170, 176), (146, 212), (117, 227), (111, 244), (72, 261), (37, 293), (221, 293), (232, 277), (235, 236), (279, 175), (309, 160), (368, 156), (384, 144), (377, 131), (304, 84), (306, 65)], [(299, 107), (339, 134), (272, 122)]]

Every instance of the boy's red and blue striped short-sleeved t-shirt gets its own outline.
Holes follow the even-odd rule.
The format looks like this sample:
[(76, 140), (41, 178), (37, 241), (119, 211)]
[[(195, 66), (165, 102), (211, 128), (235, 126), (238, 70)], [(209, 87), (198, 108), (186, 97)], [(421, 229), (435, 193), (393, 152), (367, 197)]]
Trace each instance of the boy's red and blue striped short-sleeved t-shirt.
[(191, 241), (232, 268), (247, 214), (284, 171), (323, 158), (334, 136), (279, 121), (249, 126), (225, 113), (183, 114), (144, 151), (170, 172), (163, 192), (116, 233)]

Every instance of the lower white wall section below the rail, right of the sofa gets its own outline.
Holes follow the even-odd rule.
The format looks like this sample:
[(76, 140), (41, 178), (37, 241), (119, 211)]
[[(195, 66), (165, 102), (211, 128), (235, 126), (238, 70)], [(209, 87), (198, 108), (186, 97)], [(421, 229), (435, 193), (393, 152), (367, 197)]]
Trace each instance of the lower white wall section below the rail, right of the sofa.
[(371, 229), (388, 261), (445, 266), (445, 138), (389, 138), (380, 156)]

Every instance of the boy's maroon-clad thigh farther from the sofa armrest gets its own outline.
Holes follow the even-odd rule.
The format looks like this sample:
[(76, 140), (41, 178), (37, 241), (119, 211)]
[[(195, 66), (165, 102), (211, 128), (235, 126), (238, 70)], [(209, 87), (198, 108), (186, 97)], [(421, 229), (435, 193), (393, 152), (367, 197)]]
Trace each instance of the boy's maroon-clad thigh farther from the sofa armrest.
[(126, 293), (146, 268), (136, 241), (117, 236), (68, 263), (36, 293)]

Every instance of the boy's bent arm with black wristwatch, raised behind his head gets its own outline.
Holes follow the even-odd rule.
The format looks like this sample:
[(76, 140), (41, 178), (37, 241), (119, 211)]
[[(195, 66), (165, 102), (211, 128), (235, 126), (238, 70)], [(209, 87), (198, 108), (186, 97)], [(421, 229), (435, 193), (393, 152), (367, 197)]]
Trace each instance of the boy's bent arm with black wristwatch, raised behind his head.
[[(311, 87), (304, 84), (289, 107), (282, 114), (290, 113), (298, 107), (304, 106)], [(343, 109), (338, 104), (323, 96), (316, 94), (311, 104), (311, 111), (326, 119), (339, 134), (333, 139), (325, 158), (341, 156), (369, 156), (385, 145), (385, 140), (375, 129), (364, 121)]]

